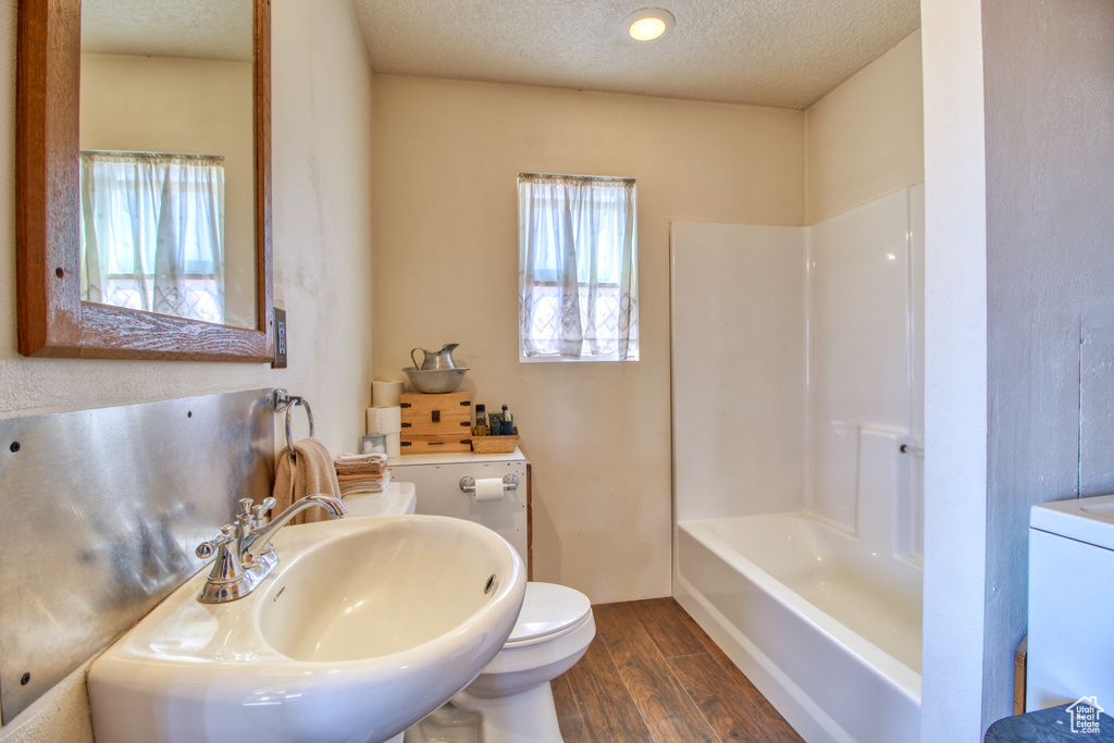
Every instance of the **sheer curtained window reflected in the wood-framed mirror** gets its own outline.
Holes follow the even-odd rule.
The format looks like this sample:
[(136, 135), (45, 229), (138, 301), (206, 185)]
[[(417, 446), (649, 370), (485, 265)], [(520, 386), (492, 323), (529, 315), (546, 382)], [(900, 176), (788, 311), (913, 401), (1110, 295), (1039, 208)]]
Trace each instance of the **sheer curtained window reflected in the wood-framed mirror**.
[(81, 299), (224, 322), (224, 158), (81, 151)]

